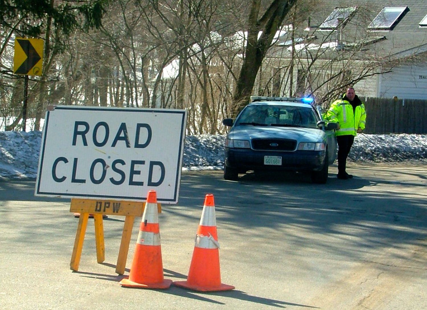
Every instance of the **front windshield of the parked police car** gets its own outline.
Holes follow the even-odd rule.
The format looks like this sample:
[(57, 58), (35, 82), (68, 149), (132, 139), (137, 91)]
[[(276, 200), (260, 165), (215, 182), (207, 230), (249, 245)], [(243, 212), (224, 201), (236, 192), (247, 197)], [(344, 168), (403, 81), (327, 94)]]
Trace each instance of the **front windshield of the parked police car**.
[(317, 127), (311, 106), (249, 105), (236, 120), (237, 126)]

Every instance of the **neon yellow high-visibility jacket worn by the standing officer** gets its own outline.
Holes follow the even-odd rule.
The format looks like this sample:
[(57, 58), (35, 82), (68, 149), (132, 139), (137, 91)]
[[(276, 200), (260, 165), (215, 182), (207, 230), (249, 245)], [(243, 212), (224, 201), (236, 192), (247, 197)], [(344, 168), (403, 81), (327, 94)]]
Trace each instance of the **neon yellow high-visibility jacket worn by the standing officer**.
[[(345, 97), (345, 95), (343, 96)], [(360, 101), (359, 97), (354, 97), (354, 100), (360, 102), (356, 106), (353, 113), (353, 106), (344, 99), (334, 101), (326, 112), (328, 121), (331, 123), (339, 123), (339, 129), (336, 130), (336, 136), (357, 135), (357, 128), (365, 129), (366, 110), (365, 105)]]

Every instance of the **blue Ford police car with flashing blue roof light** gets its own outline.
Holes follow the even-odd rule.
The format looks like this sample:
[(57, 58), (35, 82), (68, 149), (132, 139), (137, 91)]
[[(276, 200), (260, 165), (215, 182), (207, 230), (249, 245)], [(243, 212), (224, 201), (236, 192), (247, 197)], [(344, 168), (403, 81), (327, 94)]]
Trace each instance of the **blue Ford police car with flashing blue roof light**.
[(224, 178), (239, 173), (293, 170), (308, 172), (314, 183), (326, 183), (336, 158), (336, 124), (325, 124), (322, 108), (311, 98), (251, 97), (225, 140)]

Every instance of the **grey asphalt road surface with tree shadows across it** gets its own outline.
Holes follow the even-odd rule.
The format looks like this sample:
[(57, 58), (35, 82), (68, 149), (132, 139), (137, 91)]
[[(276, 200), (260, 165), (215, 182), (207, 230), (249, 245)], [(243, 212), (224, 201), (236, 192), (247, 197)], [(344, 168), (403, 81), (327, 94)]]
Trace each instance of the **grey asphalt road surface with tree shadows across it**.
[[(159, 216), (165, 278), (188, 273), (206, 193), (213, 193), (227, 292), (118, 284), (124, 218), (104, 220), (98, 264), (89, 219), (79, 271), (69, 199), (34, 197), (33, 181), (0, 182), (0, 309), (427, 309), (427, 166), (351, 165), (351, 180), (221, 171), (182, 175), (178, 205)], [(126, 273), (140, 218), (135, 220)]]

